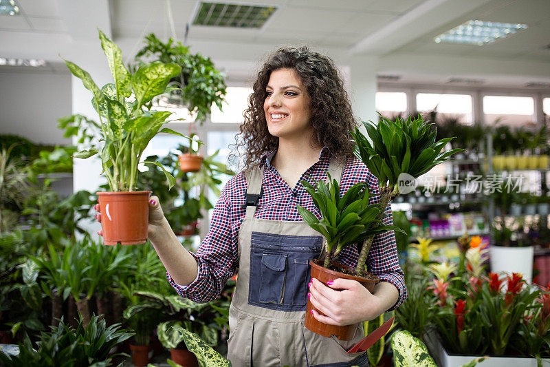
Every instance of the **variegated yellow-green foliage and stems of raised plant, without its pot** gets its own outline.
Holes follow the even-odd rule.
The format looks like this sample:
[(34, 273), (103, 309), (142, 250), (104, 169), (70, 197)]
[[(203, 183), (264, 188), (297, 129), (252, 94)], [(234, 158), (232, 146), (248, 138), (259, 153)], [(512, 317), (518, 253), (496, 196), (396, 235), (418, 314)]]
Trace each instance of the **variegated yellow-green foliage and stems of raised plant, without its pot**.
[[(183, 136), (168, 128), (161, 130), (171, 112), (151, 110), (153, 97), (170, 90), (167, 89), (168, 82), (179, 75), (181, 67), (155, 61), (141, 65), (130, 74), (122, 63), (120, 48), (101, 31), (99, 38), (114, 83), (100, 89), (88, 72), (65, 61), (72, 74), (94, 94), (91, 104), (99, 114), (101, 127), (100, 146), (80, 151), (75, 157), (89, 158), (100, 153), (102, 173), (107, 176), (111, 191), (135, 191), (137, 165), (149, 141), (159, 132)], [(164, 171), (159, 163), (148, 163), (154, 163)], [(175, 179), (167, 171), (164, 173), (171, 187)]]

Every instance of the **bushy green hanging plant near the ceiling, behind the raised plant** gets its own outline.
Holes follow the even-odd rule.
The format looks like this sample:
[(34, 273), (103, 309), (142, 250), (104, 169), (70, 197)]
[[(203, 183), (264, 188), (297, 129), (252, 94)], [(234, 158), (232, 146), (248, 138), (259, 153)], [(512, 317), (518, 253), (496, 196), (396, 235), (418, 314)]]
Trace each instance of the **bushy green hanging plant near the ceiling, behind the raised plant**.
[(223, 74), (214, 67), (209, 57), (193, 54), (181, 42), (171, 38), (164, 43), (153, 33), (145, 37), (145, 43), (135, 55), (136, 67), (143, 65), (144, 59), (181, 67), (181, 71), (170, 78), (170, 85), (177, 88), (161, 97), (166, 103), (187, 107), (199, 123), (206, 120), (212, 105), (222, 108), (226, 88)]

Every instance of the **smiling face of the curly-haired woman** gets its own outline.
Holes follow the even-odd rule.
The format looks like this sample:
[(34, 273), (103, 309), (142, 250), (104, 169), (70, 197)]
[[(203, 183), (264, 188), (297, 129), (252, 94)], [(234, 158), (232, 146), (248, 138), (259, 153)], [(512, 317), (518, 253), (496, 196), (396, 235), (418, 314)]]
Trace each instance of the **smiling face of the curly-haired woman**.
[(311, 136), (309, 94), (293, 69), (272, 72), (265, 92), (263, 111), (270, 134), (279, 139)]

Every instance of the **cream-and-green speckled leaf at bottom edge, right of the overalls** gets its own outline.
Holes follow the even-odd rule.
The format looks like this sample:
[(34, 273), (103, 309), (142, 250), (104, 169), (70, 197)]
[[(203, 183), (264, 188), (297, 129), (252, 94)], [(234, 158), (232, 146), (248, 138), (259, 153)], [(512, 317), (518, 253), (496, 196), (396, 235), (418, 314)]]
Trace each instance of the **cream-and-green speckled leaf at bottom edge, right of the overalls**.
[(397, 331), (391, 338), (395, 367), (437, 367), (426, 344), (408, 331)]

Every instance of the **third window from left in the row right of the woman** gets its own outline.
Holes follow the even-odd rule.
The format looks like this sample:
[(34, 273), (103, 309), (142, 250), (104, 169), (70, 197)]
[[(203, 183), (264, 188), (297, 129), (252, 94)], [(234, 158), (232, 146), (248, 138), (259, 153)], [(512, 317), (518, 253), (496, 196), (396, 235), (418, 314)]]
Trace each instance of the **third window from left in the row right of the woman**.
[(487, 125), (520, 127), (535, 120), (535, 101), (532, 97), (484, 96), (483, 114)]

